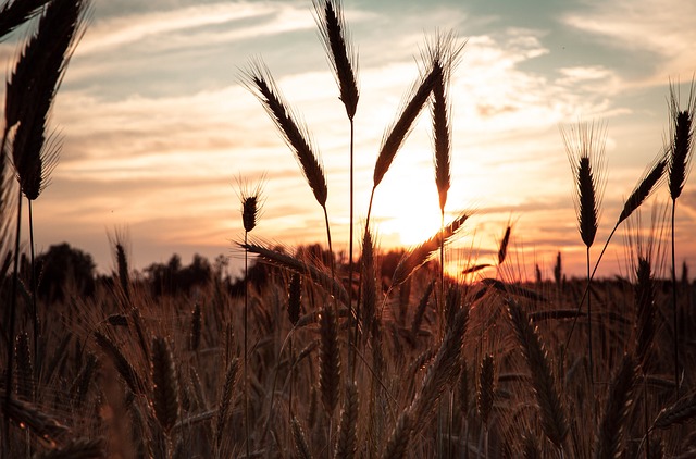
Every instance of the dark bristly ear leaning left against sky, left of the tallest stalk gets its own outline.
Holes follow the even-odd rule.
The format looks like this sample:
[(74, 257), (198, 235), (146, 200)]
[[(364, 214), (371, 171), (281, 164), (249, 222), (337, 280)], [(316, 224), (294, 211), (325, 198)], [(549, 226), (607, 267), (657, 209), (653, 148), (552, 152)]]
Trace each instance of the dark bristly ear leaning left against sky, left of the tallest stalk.
[(249, 64), (248, 70), (243, 74), (243, 80), (275, 122), (286, 144), (295, 153), (314, 198), (321, 207), (325, 207), (328, 188), (324, 168), (312, 148), (307, 127), (297, 122), (297, 116), (283, 100), (273, 77), (261, 61)]

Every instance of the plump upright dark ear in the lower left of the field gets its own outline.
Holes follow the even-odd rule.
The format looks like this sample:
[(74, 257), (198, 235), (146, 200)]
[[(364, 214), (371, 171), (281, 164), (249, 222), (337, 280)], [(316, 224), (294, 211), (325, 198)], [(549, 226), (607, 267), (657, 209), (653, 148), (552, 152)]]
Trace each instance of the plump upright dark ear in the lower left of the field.
[(179, 415), (178, 382), (174, 356), (163, 337), (152, 339), (152, 406), (160, 425), (169, 434)]

